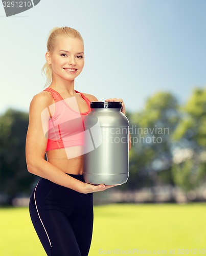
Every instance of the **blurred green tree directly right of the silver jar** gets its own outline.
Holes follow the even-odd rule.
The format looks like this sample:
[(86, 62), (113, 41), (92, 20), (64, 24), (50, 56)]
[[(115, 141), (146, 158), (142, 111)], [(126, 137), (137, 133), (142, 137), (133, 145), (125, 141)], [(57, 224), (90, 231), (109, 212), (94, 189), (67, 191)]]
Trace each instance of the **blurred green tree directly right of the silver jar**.
[(156, 93), (143, 111), (131, 115), (129, 188), (173, 183), (171, 135), (178, 118), (177, 100), (167, 92)]

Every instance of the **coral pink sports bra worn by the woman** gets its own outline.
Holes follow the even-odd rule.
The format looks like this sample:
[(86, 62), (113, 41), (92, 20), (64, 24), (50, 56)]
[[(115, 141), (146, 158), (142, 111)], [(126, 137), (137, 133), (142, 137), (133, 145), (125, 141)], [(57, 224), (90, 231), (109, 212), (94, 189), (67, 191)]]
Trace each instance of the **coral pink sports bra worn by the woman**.
[[(89, 99), (75, 90), (76, 93), (81, 94), (88, 105), (88, 111), (80, 113), (75, 97), (64, 100), (61, 95), (52, 88), (47, 88), (44, 91), (50, 92), (55, 101), (55, 113), (53, 117), (49, 119), (48, 132), (46, 134), (48, 138), (46, 151), (83, 145), (83, 120), (91, 111)], [(51, 106), (48, 108), (50, 109)]]

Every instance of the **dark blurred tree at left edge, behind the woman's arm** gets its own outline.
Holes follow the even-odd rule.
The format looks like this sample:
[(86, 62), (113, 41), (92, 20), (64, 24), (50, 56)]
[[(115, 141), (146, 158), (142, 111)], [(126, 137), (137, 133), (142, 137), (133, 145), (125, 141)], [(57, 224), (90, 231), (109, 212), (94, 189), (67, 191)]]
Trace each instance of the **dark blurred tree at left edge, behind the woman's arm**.
[(34, 181), (25, 160), (27, 127), (27, 113), (9, 109), (0, 116), (0, 192), (10, 198), (28, 193)]

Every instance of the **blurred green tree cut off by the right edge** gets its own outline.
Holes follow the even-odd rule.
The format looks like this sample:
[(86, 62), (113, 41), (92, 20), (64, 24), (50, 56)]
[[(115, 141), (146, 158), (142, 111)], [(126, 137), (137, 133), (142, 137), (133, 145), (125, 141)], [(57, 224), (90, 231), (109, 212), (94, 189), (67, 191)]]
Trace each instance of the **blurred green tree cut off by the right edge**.
[(179, 151), (174, 155), (172, 175), (176, 185), (189, 191), (206, 181), (206, 89), (194, 89), (180, 110), (173, 134)]

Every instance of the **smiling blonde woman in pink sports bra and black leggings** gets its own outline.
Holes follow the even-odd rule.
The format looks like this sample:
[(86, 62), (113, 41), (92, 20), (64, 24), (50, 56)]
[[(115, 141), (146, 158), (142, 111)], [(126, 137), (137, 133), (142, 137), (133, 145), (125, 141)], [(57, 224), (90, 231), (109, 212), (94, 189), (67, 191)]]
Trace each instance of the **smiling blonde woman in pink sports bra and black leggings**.
[(83, 120), (90, 102), (98, 99), (74, 89), (84, 67), (84, 44), (77, 30), (54, 28), (47, 50), (42, 70), (49, 87), (31, 101), (26, 141), (28, 171), (41, 177), (31, 195), (30, 216), (47, 255), (86, 256), (93, 232), (93, 193), (113, 187), (87, 184), (82, 176)]

